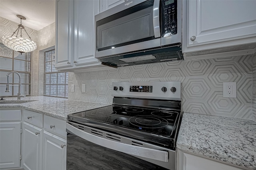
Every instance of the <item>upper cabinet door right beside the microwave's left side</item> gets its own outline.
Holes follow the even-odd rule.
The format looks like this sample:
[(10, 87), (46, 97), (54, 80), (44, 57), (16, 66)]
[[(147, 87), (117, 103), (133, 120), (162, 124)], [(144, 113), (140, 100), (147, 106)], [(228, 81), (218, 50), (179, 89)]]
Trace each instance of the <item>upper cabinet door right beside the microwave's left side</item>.
[(99, 0), (74, 0), (74, 63), (76, 66), (101, 64), (94, 58), (94, 16)]

